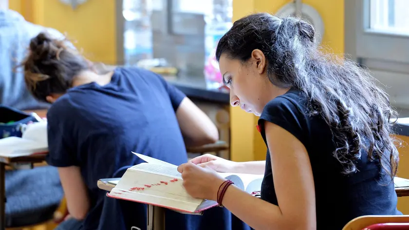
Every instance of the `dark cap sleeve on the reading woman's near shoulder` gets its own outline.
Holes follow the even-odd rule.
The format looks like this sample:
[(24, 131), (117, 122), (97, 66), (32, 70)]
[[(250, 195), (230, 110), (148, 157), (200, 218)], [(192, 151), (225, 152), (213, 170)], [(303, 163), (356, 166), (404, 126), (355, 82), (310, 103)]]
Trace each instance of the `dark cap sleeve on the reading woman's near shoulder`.
[(260, 133), (265, 141), (264, 121), (268, 121), (280, 126), (293, 134), (301, 143), (306, 144), (306, 117), (298, 103), (297, 100), (279, 96), (266, 104), (258, 121)]

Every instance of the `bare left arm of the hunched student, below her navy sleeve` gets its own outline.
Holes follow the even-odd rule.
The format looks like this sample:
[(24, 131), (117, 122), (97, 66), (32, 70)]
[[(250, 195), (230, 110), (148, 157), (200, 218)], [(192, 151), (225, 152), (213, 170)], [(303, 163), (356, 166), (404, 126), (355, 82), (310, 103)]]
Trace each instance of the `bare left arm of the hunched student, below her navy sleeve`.
[(84, 219), (90, 209), (90, 201), (79, 167), (58, 167), (58, 173), (67, 200), (68, 212), (75, 219)]

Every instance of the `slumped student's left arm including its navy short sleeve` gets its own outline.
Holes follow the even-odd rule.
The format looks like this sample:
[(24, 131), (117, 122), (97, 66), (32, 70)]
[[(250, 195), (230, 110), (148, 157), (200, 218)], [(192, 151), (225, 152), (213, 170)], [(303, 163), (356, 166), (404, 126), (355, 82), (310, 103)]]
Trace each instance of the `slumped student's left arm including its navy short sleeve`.
[[(48, 155), (46, 161), (58, 169), (70, 215), (84, 219), (90, 202), (79, 169), (76, 123), (79, 113), (71, 106), (69, 97), (59, 98), (47, 113)], [(95, 182), (96, 183), (96, 182)]]

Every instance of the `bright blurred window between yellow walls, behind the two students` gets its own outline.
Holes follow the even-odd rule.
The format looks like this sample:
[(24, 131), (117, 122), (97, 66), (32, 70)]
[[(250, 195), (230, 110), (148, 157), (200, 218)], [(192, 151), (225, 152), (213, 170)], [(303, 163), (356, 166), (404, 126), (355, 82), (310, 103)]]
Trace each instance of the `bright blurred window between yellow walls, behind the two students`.
[(203, 78), (207, 57), (232, 26), (233, 0), (121, 1), (118, 48), (123, 52), (118, 55), (123, 57), (118, 60), (125, 65), (160, 65)]

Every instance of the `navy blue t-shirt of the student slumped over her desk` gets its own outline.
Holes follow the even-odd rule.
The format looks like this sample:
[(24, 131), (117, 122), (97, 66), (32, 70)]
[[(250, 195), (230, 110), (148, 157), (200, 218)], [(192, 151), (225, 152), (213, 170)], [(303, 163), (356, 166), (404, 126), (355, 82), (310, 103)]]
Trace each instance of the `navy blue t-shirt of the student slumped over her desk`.
[[(74, 87), (51, 106), (47, 114), (47, 162), (56, 167), (80, 167), (91, 201), (84, 229), (97, 229), (120, 213), (101, 216), (107, 197), (98, 189), (97, 180), (113, 177), (121, 167), (141, 163), (132, 151), (175, 165), (187, 161), (176, 118), (184, 98), (182, 92), (152, 72), (117, 68), (109, 84)], [(137, 216), (135, 210), (132, 214)]]

